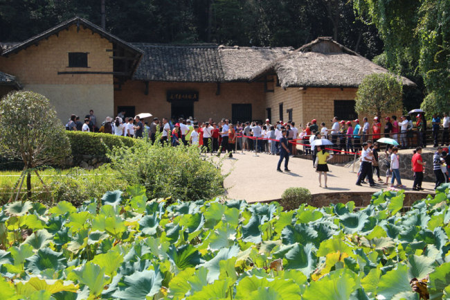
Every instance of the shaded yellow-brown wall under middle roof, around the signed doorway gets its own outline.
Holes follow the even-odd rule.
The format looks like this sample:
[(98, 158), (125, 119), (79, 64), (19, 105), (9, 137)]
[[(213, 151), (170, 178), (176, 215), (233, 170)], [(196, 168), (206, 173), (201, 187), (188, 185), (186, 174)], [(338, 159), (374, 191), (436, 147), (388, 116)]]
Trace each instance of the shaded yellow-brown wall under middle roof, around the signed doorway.
[(145, 95), (144, 82), (128, 80), (121, 91), (114, 91), (114, 112), (118, 114), (118, 106), (135, 106), (136, 114), (150, 112), (158, 118), (170, 118), (171, 104), (166, 100), (170, 90), (199, 91), (199, 100), (194, 102), (194, 116), (199, 121), (231, 118), (231, 105), (244, 103), (251, 104), (253, 119), (265, 119), (264, 85), (261, 82), (221, 83), (219, 95), (216, 95), (215, 83), (150, 82), (148, 95)]

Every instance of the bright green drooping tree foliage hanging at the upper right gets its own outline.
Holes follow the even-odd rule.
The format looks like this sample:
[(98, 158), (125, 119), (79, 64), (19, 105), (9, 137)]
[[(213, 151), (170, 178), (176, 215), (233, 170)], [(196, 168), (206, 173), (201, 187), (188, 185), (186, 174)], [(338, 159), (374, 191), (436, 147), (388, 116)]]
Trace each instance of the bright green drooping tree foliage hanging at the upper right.
[(368, 24), (377, 26), (386, 67), (423, 78), (427, 96), (422, 107), (428, 113), (448, 110), (450, 1), (354, 0), (354, 7)]

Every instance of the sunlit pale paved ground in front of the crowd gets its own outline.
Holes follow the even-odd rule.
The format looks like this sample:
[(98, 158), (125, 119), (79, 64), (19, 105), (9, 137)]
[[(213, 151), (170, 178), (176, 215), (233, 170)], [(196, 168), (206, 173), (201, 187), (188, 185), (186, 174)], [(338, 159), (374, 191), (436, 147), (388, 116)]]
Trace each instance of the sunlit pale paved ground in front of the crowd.
[[(224, 159), (222, 170), (224, 173), (231, 173), (225, 179), (225, 188), (228, 198), (246, 200), (247, 202), (258, 202), (264, 200), (280, 199), (283, 191), (290, 187), (305, 187), (312, 194), (317, 193), (345, 193), (351, 192), (376, 192), (381, 188), (388, 188), (383, 184), (377, 184), (370, 187), (368, 184), (356, 186), (357, 174), (351, 173), (351, 166), (334, 166), (328, 165), (331, 173), (328, 173), (328, 188), (318, 186), (318, 173), (313, 168), (312, 161), (290, 157), (289, 169), (291, 173), (279, 173), (276, 171), (278, 156), (259, 154), (254, 156), (252, 152), (244, 154), (236, 153), (231, 159)], [(284, 162), (282, 164), (282, 169)], [(358, 169), (355, 168), (355, 172)], [(381, 177), (386, 180), (386, 177)], [(411, 190), (413, 181), (402, 180), (402, 184), (406, 185), (406, 191)], [(323, 176), (322, 176), (322, 186)], [(434, 193), (434, 183), (424, 182), (422, 187), (425, 193)]]

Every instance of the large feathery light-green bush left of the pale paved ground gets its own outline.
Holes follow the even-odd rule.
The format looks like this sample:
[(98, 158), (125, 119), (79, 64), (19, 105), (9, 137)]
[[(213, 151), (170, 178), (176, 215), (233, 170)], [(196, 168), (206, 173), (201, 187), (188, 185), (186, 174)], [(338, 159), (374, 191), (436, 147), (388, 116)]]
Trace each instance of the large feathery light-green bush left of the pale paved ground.
[(125, 182), (144, 186), (150, 198), (199, 200), (224, 193), (219, 163), (201, 156), (196, 146), (136, 140), (132, 148), (114, 148), (109, 159)]

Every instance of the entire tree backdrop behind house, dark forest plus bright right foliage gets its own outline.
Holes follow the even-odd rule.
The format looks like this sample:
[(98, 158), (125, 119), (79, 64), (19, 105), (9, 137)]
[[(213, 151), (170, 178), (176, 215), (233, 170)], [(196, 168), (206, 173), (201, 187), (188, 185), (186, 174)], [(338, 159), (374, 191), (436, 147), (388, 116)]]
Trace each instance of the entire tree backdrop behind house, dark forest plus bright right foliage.
[(0, 0), (0, 42), (74, 16), (127, 42), (293, 46), (331, 36), (417, 83), (406, 107), (450, 104), (449, 0)]

